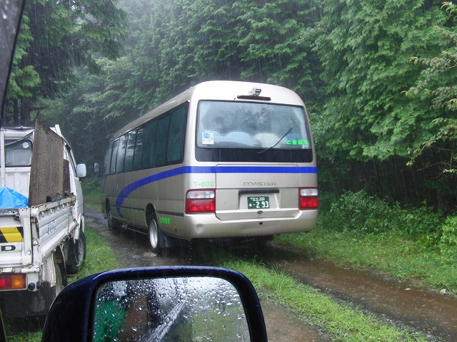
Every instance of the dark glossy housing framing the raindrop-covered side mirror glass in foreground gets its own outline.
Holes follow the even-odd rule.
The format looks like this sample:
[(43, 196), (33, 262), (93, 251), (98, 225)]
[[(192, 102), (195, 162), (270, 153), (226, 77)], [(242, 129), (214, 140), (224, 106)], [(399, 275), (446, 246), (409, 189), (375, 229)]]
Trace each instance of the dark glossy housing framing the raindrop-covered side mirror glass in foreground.
[[(145, 281), (148, 279), (149, 281), (154, 281), (154, 284), (156, 284), (157, 281), (164, 281), (164, 279), (182, 278), (186, 279), (184, 281), (185, 283), (186, 281), (189, 281), (189, 279), (190, 282), (195, 282), (194, 279), (196, 279), (196, 281), (199, 281), (199, 284), (203, 284), (203, 286), (205, 286), (204, 284), (206, 281), (201, 281), (200, 277), (219, 279), (224, 283), (231, 284), (231, 287), (238, 292), (238, 301), (242, 304), (241, 309), (244, 311), (243, 316), (248, 326), (248, 336), (250, 341), (268, 341), (261, 305), (251, 281), (237, 271), (222, 269), (219, 267), (204, 266), (169, 266), (120, 269), (107, 271), (101, 274), (94, 274), (87, 276), (84, 279), (80, 279), (79, 281), (75, 281), (69, 286), (66, 286), (66, 288), (64, 288), (64, 290), (62, 290), (54, 300), (54, 303), (49, 310), (49, 314), (46, 317), (41, 341), (97, 341), (96, 339), (93, 339), (93, 336), (96, 335), (94, 335), (94, 327), (104, 324), (103, 322), (100, 322), (103, 315), (97, 314), (97, 312), (101, 312), (99, 303), (101, 293), (106, 291), (104, 290), (106, 289), (106, 284), (118, 284), (117, 282), (123, 284), (128, 281), (137, 281), (138, 283), (138, 281)], [(175, 294), (180, 294), (179, 298), (181, 298), (181, 290), (183, 288), (176, 285), (176, 283), (177, 281), (173, 281), (170, 284), (175, 284), (176, 288), (173, 292)], [(188, 286), (186, 285), (184, 287)], [(116, 291), (119, 292), (119, 290)], [(123, 293), (124, 297), (126, 294), (132, 296), (132, 291), (124, 291)], [(133, 293), (138, 294), (138, 291), (134, 291)], [(133, 296), (138, 298), (136, 295)], [(188, 291), (187, 296), (191, 297), (190, 301), (193, 301), (194, 299), (192, 297), (196, 297), (198, 294), (194, 294), (194, 291)], [(186, 320), (188, 319), (187, 314), (189, 314), (188, 311), (186, 311), (186, 316), (184, 316)], [(226, 316), (224, 315), (219, 315), (219, 318), (216, 320), (218, 326), (220, 324), (221, 330), (225, 328), (225, 317)], [(138, 320), (136, 320), (136, 322), (137, 321)], [(131, 341), (146, 340), (134, 339)], [(166, 340), (164, 339), (163, 341)]]

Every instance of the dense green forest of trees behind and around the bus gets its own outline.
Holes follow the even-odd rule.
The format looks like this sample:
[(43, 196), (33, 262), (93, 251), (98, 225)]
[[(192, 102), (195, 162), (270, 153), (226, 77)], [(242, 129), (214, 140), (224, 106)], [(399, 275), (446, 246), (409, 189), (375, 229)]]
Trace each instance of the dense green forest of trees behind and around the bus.
[(308, 106), (320, 191), (457, 204), (456, 7), (442, 0), (30, 0), (2, 125), (59, 123), (78, 160), (201, 81)]

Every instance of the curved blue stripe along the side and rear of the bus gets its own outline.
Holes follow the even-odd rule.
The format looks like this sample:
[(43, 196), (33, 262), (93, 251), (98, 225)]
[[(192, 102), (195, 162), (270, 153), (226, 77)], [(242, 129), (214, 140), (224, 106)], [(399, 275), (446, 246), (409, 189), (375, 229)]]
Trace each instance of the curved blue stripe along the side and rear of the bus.
[(317, 167), (289, 167), (289, 166), (182, 166), (176, 169), (167, 170), (164, 172), (150, 175), (141, 180), (133, 182), (119, 192), (116, 198), (116, 211), (122, 217), (121, 206), (127, 197), (135, 190), (149, 183), (164, 180), (169, 177), (185, 175), (189, 173), (317, 173)]

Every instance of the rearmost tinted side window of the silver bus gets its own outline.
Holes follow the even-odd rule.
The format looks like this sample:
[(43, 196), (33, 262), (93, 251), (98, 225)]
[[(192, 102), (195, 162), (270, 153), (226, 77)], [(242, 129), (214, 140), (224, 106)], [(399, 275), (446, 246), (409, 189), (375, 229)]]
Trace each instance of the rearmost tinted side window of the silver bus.
[(168, 162), (179, 162), (182, 159), (185, 114), (186, 108), (181, 107), (174, 110), (171, 115), (169, 139), (166, 147), (166, 160)]

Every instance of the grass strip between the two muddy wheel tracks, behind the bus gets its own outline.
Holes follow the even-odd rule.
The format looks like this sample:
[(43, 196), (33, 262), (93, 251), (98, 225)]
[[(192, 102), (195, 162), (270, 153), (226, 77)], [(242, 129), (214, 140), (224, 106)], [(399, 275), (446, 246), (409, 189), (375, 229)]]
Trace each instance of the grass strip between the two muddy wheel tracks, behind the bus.
[(268, 300), (285, 306), (302, 321), (324, 329), (332, 341), (428, 341), (379, 321), (350, 304), (341, 304), (293, 277), (248, 261), (224, 261), (222, 266), (248, 276)]

